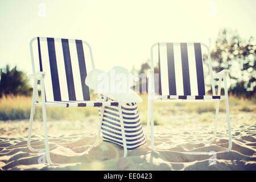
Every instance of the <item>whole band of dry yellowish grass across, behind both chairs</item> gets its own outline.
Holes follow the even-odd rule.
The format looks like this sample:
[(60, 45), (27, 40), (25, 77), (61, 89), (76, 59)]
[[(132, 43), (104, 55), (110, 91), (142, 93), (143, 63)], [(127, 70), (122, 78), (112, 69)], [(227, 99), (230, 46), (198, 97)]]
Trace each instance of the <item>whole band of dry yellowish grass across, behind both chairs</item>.
[[(143, 102), (138, 103), (139, 114), (142, 123), (147, 121), (147, 95), (141, 95)], [(96, 95), (92, 96), (96, 100)], [(229, 97), (230, 114), (247, 111), (256, 113), (255, 98), (248, 100), (246, 98)], [(15, 120), (30, 118), (31, 97), (25, 96), (7, 96), (0, 99), (0, 120)], [(170, 119), (170, 115), (180, 115), (183, 119), (191, 122), (191, 118), (198, 118), (200, 121), (212, 120), (214, 114), (214, 103), (155, 103), (154, 104), (154, 122), (161, 125)], [(225, 103), (221, 101), (220, 112), (225, 111)], [(185, 117), (188, 115), (191, 117)], [(210, 116), (210, 117), (209, 117)], [(96, 107), (47, 107), (47, 118), (51, 120), (67, 119), (82, 120), (85, 118), (97, 118), (98, 110)], [(35, 119), (42, 120), (42, 109), (36, 107)]]

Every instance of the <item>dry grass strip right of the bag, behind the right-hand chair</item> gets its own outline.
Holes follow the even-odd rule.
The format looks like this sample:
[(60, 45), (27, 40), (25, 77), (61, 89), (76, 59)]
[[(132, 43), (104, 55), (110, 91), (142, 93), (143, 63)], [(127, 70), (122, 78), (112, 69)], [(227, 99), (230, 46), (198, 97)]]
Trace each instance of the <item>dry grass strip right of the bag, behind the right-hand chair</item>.
[[(141, 95), (143, 102), (138, 103), (139, 113), (142, 123), (147, 122), (147, 95)], [(246, 99), (236, 96), (229, 96), (230, 114), (240, 111), (256, 113), (255, 98)], [(226, 111), (225, 101), (220, 102), (220, 113)], [(180, 115), (182, 119), (191, 122), (191, 118), (199, 118), (200, 121), (212, 121), (215, 113), (215, 103), (213, 102), (155, 102), (154, 103), (154, 123), (161, 125), (170, 119), (171, 115)], [(190, 117), (185, 117), (189, 115)]]

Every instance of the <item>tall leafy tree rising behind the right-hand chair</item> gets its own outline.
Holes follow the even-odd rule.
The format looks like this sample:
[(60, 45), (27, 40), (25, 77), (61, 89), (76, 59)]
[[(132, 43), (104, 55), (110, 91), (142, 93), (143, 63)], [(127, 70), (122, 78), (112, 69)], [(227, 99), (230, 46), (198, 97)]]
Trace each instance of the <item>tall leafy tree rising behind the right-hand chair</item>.
[(256, 45), (253, 37), (243, 40), (237, 31), (220, 30), (215, 46), (210, 52), (213, 71), (229, 69), (229, 91), (237, 96), (255, 96)]

